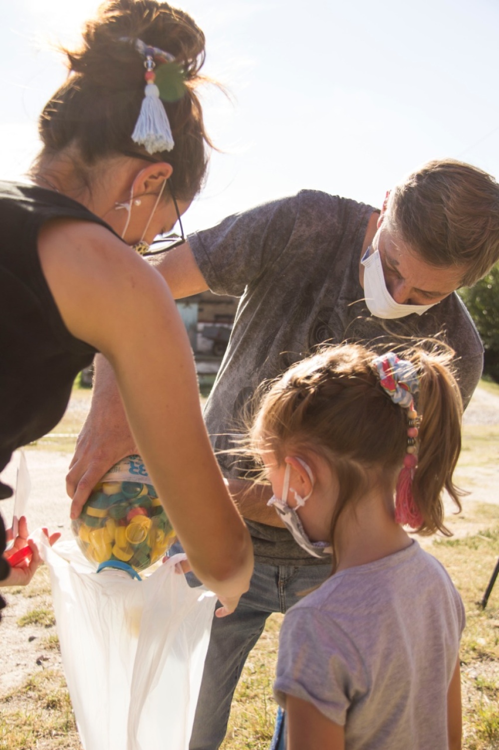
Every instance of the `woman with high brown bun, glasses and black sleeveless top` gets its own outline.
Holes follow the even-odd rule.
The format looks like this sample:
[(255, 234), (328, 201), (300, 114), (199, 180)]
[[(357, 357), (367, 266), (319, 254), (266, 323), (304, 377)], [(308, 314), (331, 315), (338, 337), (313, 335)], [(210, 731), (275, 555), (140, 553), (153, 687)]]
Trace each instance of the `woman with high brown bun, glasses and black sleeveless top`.
[(40, 116), (31, 184), (0, 183), (0, 470), (57, 424), (76, 374), (103, 353), (190, 565), (223, 616), (249, 586), (249, 534), (211, 451), (169, 288), (130, 248), (143, 252), (172, 229), (202, 185), (205, 37), (166, 3), (112, 0), (66, 54), (67, 81)]

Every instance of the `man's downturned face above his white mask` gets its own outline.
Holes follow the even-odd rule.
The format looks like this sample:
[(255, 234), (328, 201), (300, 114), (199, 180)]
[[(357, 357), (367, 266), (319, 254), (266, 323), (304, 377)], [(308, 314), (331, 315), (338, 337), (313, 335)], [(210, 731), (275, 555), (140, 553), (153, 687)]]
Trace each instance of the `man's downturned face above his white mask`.
[(383, 266), (387, 290), (399, 305), (435, 305), (462, 285), (465, 266), (430, 266), (380, 223), (372, 241)]

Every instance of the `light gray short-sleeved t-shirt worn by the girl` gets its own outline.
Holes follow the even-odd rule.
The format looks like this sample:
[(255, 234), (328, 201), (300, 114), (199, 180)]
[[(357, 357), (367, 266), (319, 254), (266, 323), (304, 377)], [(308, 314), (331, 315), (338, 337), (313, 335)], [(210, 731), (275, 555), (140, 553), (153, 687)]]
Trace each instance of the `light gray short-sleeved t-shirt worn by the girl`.
[(285, 614), (276, 700), (345, 725), (347, 750), (447, 750), (447, 689), (465, 610), (417, 541), (328, 578)]

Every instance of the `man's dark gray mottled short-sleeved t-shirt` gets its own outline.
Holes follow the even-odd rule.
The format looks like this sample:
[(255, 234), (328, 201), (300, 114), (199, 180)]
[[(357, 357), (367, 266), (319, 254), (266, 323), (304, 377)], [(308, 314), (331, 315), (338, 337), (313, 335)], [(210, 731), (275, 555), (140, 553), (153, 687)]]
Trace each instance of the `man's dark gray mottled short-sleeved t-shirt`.
[[(241, 297), (234, 329), (205, 421), (223, 473), (251, 466), (227, 452), (244, 433), (257, 386), (328, 341), (363, 341), (373, 348), (393, 335), (428, 337), (447, 331), (456, 350), (465, 403), (483, 367), (483, 347), (456, 294), (422, 316), (381, 321), (363, 301), (359, 263), (375, 208), (317, 190), (260, 205), (189, 236), (196, 263), (217, 294)], [(286, 529), (248, 521), (258, 562), (317, 565)]]

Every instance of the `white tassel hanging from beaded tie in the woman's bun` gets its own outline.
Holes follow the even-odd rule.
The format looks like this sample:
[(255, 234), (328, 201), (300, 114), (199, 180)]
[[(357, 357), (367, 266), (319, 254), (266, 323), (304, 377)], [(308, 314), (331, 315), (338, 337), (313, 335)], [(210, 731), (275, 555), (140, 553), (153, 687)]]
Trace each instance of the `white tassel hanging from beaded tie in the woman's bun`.
[(175, 57), (163, 49), (148, 46), (142, 39), (122, 37), (120, 41), (131, 42), (137, 52), (145, 57), (145, 89), (139, 118), (132, 133), (133, 142), (143, 145), (149, 154), (157, 151), (172, 151), (175, 145), (168, 115), (160, 99), (160, 89), (154, 83), (156, 74), (154, 58), (161, 58), (162, 62), (175, 62)]

